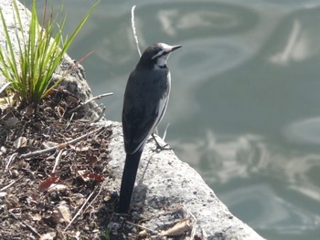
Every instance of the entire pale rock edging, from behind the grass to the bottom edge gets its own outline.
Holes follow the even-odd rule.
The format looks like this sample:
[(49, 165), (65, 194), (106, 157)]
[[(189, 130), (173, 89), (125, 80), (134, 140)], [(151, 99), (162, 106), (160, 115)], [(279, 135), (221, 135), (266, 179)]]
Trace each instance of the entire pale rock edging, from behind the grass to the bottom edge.
[[(23, 5), (18, 5), (19, 9), (23, 9)], [(0, 7), (17, 52), (12, 0), (1, 0)], [(27, 31), (27, 15), (25, 11), (20, 13), (23, 29)], [(0, 32), (3, 32), (2, 27), (0, 24)], [(0, 45), (5, 47), (3, 34), (0, 35)], [(64, 71), (73, 65), (71, 58), (65, 57), (54, 78), (62, 76)], [(0, 87), (3, 84), (5, 78), (0, 74)], [(91, 98), (91, 89), (85, 80), (82, 67), (69, 75), (63, 84), (81, 99)], [(97, 104), (92, 102), (88, 109), (92, 110), (96, 106)], [(95, 111), (96, 115), (99, 113)], [(118, 191), (125, 158), (121, 124), (111, 121), (101, 121), (100, 124), (112, 126), (109, 149), (112, 161), (108, 164), (115, 181), (109, 183), (108, 188)], [(156, 152), (154, 149), (154, 141), (149, 141), (144, 149), (133, 192), (133, 218), (144, 218), (144, 226), (156, 231), (175, 224), (181, 218), (189, 218), (195, 234), (200, 237), (197, 239), (262, 239), (250, 226), (230, 214), (228, 208), (219, 201), (201, 176), (187, 163), (180, 161), (173, 151)]]

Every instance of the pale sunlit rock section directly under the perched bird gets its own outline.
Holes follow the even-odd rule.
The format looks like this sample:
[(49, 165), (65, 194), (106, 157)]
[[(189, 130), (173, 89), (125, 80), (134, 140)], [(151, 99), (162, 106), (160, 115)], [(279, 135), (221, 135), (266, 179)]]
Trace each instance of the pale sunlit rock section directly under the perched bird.
[[(112, 122), (109, 169), (120, 185), (125, 153), (121, 124)], [(160, 144), (165, 145), (160, 138)], [(200, 239), (263, 239), (250, 226), (232, 215), (226, 205), (187, 163), (180, 161), (174, 151), (155, 152), (155, 142), (147, 142), (133, 190), (132, 208), (142, 212), (144, 226), (160, 230), (180, 218), (190, 217)], [(181, 214), (182, 212), (182, 214)], [(194, 219), (193, 219), (194, 218)], [(175, 222), (176, 221), (176, 222)]]

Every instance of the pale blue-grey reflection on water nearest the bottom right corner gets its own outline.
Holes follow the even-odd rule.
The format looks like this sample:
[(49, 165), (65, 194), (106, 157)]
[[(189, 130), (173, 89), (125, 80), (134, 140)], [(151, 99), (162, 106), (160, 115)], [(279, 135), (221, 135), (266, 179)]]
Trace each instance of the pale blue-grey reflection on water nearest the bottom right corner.
[(222, 193), (220, 198), (230, 203), (234, 214), (246, 215), (246, 222), (256, 225), (261, 232), (272, 230), (282, 235), (299, 235), (319, 228), (318, 214), (275, 197), (277, 194), (270, 185), (260, 183)]

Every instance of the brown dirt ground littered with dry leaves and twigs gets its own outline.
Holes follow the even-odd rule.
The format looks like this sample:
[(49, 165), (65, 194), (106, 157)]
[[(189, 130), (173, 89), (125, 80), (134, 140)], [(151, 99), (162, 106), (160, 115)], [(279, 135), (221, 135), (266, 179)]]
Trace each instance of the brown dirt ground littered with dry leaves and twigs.
[(79, 104), (59, 89), (37, 106), (0, 111), (0, 239), (136, 238), (121, 227), (111, 234), (112, 130), (71, 112)]

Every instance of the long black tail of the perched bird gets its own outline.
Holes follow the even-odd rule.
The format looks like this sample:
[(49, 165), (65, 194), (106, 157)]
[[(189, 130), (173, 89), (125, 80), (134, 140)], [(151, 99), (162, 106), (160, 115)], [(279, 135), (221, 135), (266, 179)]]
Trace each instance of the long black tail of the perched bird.
[(136, 172), (143, 151), (139, 150), (133, 154), (127, 154), (125, 157), (123, 180), (121, 183), (120, 200), (119, 200), (119, 213), (127, 214), (133, 194), (133, 186), (135, 182)]

